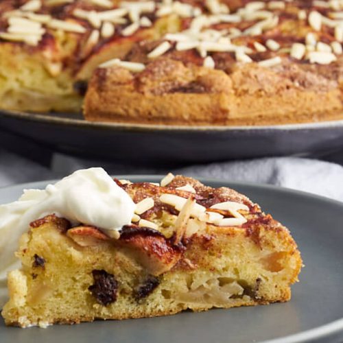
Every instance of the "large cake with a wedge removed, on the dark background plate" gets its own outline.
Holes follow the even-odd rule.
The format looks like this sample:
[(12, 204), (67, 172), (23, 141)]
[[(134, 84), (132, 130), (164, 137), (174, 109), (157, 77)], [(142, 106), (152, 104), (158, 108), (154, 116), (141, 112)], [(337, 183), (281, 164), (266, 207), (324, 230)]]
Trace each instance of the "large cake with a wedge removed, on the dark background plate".
[[(0, 3), (0, 106), (91, 121), (342, 119), (342, 0)], [(29, 29), (25, 29), (29, 27)]]

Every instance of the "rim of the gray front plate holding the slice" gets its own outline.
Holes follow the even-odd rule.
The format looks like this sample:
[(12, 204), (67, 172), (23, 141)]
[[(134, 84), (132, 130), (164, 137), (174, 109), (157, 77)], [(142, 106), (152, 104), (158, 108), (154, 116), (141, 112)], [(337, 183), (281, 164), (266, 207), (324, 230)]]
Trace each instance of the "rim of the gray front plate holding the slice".
[[(161, 180), (164, 175), (160, 174), (119, 174), (119, 175), (111, 175), (113, 178), (126, 178), (126, 179), (131, 179), (131, 180), (137, 180), (137, 179), (146, 179), (147, 182), (150, 181), (156, 181), (156, 179)], [(37, 185), (37, 184), (42, 184), (42, 185), (47, 185), (48, 183), (52, 182), (57, 182), (60, 179), (49, 179), (49, 180), (40, 180), (40, 181), (34, 181), (34, 182), (24, 182), (24, 183), (19, 183), (16, 185), (9, 185), (5, 187), (0, 187), (0, 193), (3, 191), (6, 191), (11, 188), (23, 188), (25, 187), (30, 187), (30, 185)], [(257, 184), (255, 182), (235, 182), (235, 181), (230, 181), (230, 180), (219, 180), (216, 178), (202, 178), (199, 177), (198, 180), (200, 182), (220, 182), (223, 184), (224, 187), (252, 187), (258, 190), (263, 190), (263, 189), (268, 189), (271, 191), (276, 191), (276, 192), (281, 192), (281, 193), (288, 193), (291, 196), (300, 196), (300, 197), (305, 197), (305, 198), (311, 198), (313, 200), (319, 201), (319, 202), (326, 202), (329, 205), (333, 206), (340, 206), (343, 209), (343, 202), (340, 202), (339, 200), (334, 200), (331, 198), (327, 198), (324, 196), (318, 196), (313, 193), (305, 192), (305, 191), (298, 191), (296, 189), (289, 189), (286, 187), (279, 187), (276, 185), (268, 185), (268, 184)], [(0, 203), (1, 205), (1, 203)], [(2, 318), (1, 318), (2, 320)], [(332, 338), (334, 335), (338, 333), (343, 333), (343, 314), (342, 318), (338, 320), (333, 320), (332, 322), (329, 322), (327, 324), (322, 324), (319, 327), (315, 327), (313, 329), (301, 331), (299, 333), (294, 333), (292, 335), (286, 335), (283, 337), (279, 338), (274, 338), (272, 340), (264, 340), (264, 341), (259, 341), (260, 343), (300, 343), (300, 342), (311, 342), (314, 339), (322, 339), (322, 338)], [(342, 335), (343, 337), (343, 335)]]

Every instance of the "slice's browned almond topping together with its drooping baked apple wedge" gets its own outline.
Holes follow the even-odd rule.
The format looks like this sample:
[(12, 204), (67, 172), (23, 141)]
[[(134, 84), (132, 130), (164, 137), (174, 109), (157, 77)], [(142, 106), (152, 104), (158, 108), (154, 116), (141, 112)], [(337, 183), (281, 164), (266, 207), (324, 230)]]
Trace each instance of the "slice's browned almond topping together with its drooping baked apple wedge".
[[(173, 268), (193, 239), (200, 239), (206, 246), (219, 234), (243, 234), (259, 247), (262, 228), (288, 237), (287, 228), (265, 215), (246, 196), (227, 187), (215, 189), (193, 178), (172, 174), (163, 178), (161, 184), (116, 179), (114, 182), (136, 204), (132, 223), (119, 232), (82, 223), (72, 226), (52, 213), (30, 226), (35, 229), (53, 224), (83, 248), (114, 244), (134, 255), (154, 275)], [(295, 246), (292, 239), (289, 243)]]

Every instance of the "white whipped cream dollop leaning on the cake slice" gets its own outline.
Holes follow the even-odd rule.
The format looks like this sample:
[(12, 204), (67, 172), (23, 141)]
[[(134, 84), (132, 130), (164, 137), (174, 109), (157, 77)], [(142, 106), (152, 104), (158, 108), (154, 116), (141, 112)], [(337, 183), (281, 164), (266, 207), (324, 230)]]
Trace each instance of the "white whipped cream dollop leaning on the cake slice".
[(75, 171), (44, 190), (25, 189), (19, 200), (0, 205), (0, 308), (7, 298), (7, 273), (20, 267), (14, 252), (29, 223), (54, 213), (73, 225), (119, 230), (131, 223), (134, 208), (128, 193), (102, 168)]

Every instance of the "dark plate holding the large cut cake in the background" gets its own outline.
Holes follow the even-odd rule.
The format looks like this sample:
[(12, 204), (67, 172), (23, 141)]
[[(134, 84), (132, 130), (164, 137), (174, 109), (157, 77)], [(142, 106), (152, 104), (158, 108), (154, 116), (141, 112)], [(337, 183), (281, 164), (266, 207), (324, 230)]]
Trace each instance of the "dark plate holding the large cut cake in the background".
[[(36, 143), (44, 145), (45, 150), (87, 158), (155, 164), (291, 154), (316, 156), (343, 147), (343, 121), (187, 127), (100, 123), (85, 121), (81, 115), (0, 110), (0, 128), (23, 139), (24, 150), (30, 143)], [(3, 139), (1, 144), (7, 141)]]

